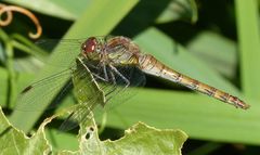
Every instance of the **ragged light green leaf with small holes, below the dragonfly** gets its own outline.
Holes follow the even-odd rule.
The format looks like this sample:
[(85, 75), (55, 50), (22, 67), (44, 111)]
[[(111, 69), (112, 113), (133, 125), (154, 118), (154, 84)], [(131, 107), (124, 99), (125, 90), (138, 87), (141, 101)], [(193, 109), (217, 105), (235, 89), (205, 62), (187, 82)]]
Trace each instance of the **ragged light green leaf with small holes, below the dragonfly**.
[(100, 141), (96, 126), (84, 127), (79, 134), (80, 150), (62, 151), (69, 154), (174, 154), (180, 155), (187, 135), (181, 130), (156, 129), (138, 122), (125, 131), (125, 137), (116, 141)]

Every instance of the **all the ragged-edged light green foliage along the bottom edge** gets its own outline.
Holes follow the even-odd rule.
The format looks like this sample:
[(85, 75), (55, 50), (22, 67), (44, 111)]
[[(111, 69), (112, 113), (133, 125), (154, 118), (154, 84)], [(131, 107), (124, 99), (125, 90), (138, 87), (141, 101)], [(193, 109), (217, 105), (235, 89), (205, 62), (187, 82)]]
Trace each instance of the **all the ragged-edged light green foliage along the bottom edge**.
[(54, 117), (46, 119), (37, 132), (28, 138), (15, 129), (4, 117), (0, 108), (0, 150), (1, 154), (40, 155), (40, 154), (181, 154), (181, 147), (187, 135), (181, 130), (158, 130), (138, 122), (126, 130), (125, 137), (117, 141), (100, 141), (94, 121), (80, 124), (78, 151), (53, 151), (44, 134), (44, 126)]

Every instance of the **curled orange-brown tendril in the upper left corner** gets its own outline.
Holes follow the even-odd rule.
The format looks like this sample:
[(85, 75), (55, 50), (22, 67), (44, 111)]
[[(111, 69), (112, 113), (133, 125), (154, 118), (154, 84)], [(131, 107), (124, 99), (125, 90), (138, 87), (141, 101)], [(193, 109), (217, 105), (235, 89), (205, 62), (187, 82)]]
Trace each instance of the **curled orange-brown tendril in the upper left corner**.
[[(15, 5), (5, 5), (5, 4), (0, 3), (0, 26), (6, 26), (12, 22), (12, 20), (13, 20), (12, 12), (14, 12), (14, 11), (25, 14), (35, 23), (36, 28), (37, 28), (36, 34), (29, 33), (28, 35), (32, 39), (39, 38), (42, 33), (42, 28), (41, 28), (39, 21), (30, 11), (28, 11), (24, 8), (20, 8), (20, 7), (15, 7)], [(4, 13), (6, 13), (6, 17), (4, 20), (2, 20), (1, 16)]]

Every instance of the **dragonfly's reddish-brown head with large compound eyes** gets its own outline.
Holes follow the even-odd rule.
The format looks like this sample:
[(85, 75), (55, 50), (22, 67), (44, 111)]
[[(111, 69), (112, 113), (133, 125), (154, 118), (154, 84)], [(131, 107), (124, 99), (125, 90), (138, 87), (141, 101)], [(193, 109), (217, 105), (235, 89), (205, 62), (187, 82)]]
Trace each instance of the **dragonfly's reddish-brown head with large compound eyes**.
[(102, 41), (96, 37), (90, 37), (81, 44), (82, 54), (89, 59), (93, 59), (94, 56), (98, 56), (101, 53), (101, 51), (102, 51)]

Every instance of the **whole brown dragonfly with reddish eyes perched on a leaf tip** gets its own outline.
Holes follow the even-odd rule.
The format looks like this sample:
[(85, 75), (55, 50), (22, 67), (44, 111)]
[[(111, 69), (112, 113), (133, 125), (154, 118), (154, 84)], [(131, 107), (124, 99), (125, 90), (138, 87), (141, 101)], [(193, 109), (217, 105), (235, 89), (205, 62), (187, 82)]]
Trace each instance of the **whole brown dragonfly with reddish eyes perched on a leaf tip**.
[[(78, 111), (73, 112), (69, 118), (79, 119), (78, 117), (87, 117), (98, 104), (104, 107), (114, 96), (125, 92), (127, 88), (143, 85), (144, 74), (147, 74), (180, 83), (235, 107), (249, 108), (249, 105), (237, 96), (171, 69), (153, 55), (142, 52), (141, 48), (130, 38), (123, 36), (90, 37), (86, 40), (68, 40), (65, 41), (65, 44), (67, 47), (77, 46), (80, 50), (74, 64), (67, 70), (25, 88), (21, 98), (24, 104), (31, 104), (36, 101), (35, 98), (38, 98), (38, 94), (34, 98), (28, 96), (29, 92), (40, 92), (40, 87), (49, 87), (48, 94), (50, 94), (51, 89), (57, 89), (56, 85), (60, 78), (69, 75), (68, 79), (72, 80), (68, 83), (74, 86), (77, 92), (76, 98), (81, 103), (77, 108)], [(64, 89), (64, 87), (58, 88), (58, 91)], [(86, 90), (91, 91), (87, 93)]]

